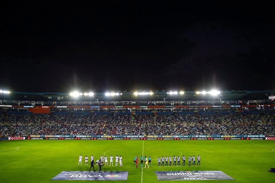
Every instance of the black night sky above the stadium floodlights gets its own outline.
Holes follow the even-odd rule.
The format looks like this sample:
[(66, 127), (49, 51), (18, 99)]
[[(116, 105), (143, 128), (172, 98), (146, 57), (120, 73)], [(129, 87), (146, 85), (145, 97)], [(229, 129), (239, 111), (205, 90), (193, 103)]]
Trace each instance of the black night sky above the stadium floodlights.
[(275, 89), (273, 4), (167, 2), (3, 3), (0, 89)]

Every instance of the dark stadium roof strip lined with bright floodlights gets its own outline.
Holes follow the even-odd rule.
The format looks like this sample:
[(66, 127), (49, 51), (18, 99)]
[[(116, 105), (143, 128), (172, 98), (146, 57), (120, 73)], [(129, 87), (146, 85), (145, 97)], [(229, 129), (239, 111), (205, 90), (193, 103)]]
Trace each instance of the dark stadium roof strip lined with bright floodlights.
[(184, 91), (184, 94), (168, 94), (168, 92), (153, 92), (152, 95), (134, 95), (134, 92), (119, 92), (116, 96), (106, 96), (105, 93), (94, 93), (93, 96), (70, 96), (70, 93), (55, 92), (11, 92), (10, 94), (1, 94), (2, 100), (21, 100), (21, 101), (50, 101), (58, 100), (63, 97), (63, 101), (211, 101), (211, 100), (268, 100), (268, 96), (275, 94), (274, 90), (260, 91), (221, 91), (215, 96), (211, 94), (198, 94), (197, 91)]

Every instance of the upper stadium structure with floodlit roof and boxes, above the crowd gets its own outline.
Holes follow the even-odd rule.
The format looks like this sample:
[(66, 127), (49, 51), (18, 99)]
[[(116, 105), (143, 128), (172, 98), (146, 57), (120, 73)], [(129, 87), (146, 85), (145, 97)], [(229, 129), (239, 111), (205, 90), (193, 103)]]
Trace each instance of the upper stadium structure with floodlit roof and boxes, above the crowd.
[(275, 90), (184, 92), (110, 92), (110, 93), (28, 93), (0, 94), (1, 111), (32, 113), (274, 113)]

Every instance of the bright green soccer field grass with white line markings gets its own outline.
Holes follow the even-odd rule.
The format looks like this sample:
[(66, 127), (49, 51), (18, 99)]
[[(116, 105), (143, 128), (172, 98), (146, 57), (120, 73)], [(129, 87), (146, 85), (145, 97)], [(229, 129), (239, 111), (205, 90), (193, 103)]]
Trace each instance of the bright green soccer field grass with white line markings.
[[(222, 171), (235, 180), (207, 182), (274, 182), (275, 144), (266, 140), (21, 140), (1, 141), (0, 182), (59, 182), (51, 180), (62, 171), (89, 171), (90, 157), (123, 157), (123, 167), (102, 167), (102, 171), (129, 171), (127, 181), (158, 182), (155, 171)], [(82, 154), (82, 166), (78, 157)], [(151, 156), (152, 167), (133, 166), (134, 156)], [(201, 167), (188, 167), (188, 157), (201, 156)], [(89, 164), (85, 166), (85, 156)], [(184, 167), (158, 167), (158, 156), (186, 156)], [(197, 159), (197, 158), (196, 158)], [(109, 162), (109, 158), (108, 158)], [(114, 161), (115, 162), (115, 161)], [(181, 161), (182, 162), (182, 161)], [(190, 182), (191, 180), (189, 180)], [(91, 182), (91, 181), (61, 181)], [(110, 182), (110, 181), (92, 181)], [(179, 182), (179, 181), (161, 181)], [(194, 182), (194, 181), (191, 181)], [(197, 182), (197, 181), (196, 181)]]

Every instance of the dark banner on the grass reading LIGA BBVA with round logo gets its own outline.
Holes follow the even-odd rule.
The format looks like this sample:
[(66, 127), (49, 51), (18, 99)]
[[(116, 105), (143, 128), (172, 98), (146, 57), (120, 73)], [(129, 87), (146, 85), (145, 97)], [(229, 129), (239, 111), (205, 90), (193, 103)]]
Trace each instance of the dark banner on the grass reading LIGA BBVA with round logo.
[(51, 180), (127, 180), (128, 172), (63, 171)]

